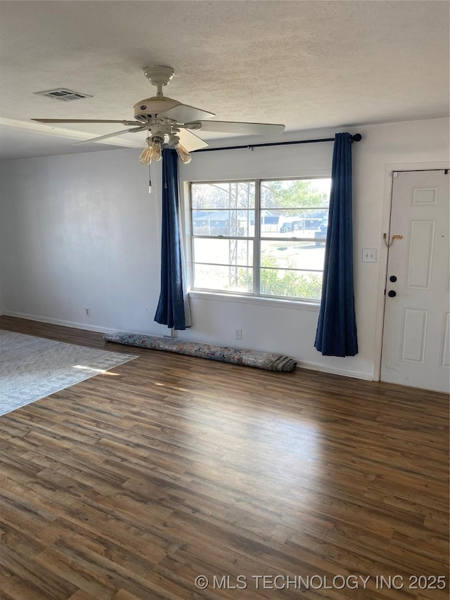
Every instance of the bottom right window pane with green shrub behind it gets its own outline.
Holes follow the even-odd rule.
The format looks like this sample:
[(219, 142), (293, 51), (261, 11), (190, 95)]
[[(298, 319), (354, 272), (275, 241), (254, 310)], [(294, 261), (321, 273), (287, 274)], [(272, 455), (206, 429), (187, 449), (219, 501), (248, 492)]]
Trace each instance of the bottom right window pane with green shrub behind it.
[(284, 298), (320, 300), (322, 273), (261, 269), (261, 293)]

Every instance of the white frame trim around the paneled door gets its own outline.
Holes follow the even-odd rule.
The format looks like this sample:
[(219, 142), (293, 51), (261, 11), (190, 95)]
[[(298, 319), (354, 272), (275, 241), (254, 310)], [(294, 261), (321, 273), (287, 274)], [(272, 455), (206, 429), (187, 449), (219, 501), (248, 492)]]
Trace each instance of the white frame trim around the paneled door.
[(381, 351), (383, 348), (383, 322), (385, 318), (385, 286), (387, 276), (387, 246), (383, 234), (389, 234), (392, 203), (392, 171), (426, 171), (432, 169), (450, 169), (449, 162), (392, 162), (385, 167), (385, 194), (383, 203), (383, 223), (380, 233), (380, 271), (378, 277), (377, 316), (375, 324), (375, 347), (373, 352), (373, 381), (380, 381)]

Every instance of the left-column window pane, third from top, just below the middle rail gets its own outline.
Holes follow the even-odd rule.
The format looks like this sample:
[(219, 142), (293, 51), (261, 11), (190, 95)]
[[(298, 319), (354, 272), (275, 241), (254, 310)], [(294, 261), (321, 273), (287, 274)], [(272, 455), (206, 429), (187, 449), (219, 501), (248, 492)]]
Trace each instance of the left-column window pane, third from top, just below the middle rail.
[[(193, 241), (194, 262), (226, 264), (251, 267), (253, 264), (253, 242), (251, 240), (217, 240), (195, 238)], [(197, 285), (197, 282), (195, 282)]]

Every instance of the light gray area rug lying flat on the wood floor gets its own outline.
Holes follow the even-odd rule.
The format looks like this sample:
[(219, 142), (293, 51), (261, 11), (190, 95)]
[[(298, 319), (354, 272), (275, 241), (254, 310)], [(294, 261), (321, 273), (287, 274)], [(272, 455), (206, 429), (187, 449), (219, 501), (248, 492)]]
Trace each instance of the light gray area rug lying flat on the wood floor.
[(0, 329), (0, 415), (135, 358)]

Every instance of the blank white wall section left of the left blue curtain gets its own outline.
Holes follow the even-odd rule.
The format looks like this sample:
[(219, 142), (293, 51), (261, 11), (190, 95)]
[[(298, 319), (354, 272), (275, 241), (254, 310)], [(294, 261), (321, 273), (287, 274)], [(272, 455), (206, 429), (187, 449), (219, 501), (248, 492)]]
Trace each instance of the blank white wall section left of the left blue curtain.
[[(167, 332), (153, 322), (160, 200), (148, 194), (138, 156), (103, 151), (1, 165), (6, 314), (100, 331)], [(158, 168), (152, 179), (160, 189)]]

